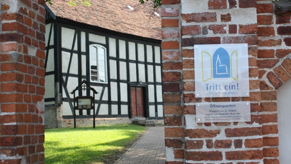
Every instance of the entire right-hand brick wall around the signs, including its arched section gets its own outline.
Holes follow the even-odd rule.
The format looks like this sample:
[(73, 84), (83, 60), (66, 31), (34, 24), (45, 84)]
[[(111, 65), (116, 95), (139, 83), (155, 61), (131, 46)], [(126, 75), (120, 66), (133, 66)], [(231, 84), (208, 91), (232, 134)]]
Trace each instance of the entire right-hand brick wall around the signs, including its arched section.
[[(276, 89), (291, 74), (290, 29), (271, 0), (162, 0), (167, 164), (279, 163)], [(228, 43), (248, 43), (250, 97), (195, 98), (194, 44)], [(195, 103), (220, 101), (251, 101), (252, 121), (196, 123)]]

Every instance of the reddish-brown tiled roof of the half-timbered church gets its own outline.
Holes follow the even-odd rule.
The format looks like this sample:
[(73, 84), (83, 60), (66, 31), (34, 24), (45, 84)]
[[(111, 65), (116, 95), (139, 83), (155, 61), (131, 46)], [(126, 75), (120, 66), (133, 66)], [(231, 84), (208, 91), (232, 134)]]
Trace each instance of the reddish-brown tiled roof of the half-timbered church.
[(68, 1), (53, 0), (53, 5), (48, 7), (57, 17), (120, 33), (162, 40), (161, 9), (157, 9), (160, 16), (155, 15), (153, 3), (150, 1), (140, 4), (138, 0), (89, 0), (91, 7), (81, 4), (70, 7)]

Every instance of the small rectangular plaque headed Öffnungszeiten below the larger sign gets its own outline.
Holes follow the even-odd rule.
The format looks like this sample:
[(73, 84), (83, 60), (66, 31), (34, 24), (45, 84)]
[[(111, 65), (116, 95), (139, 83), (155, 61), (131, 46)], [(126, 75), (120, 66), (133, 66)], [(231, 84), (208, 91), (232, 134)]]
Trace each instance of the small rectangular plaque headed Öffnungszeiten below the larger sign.
[(196, 122), (249, 122), (249, 101), (196, 103)]

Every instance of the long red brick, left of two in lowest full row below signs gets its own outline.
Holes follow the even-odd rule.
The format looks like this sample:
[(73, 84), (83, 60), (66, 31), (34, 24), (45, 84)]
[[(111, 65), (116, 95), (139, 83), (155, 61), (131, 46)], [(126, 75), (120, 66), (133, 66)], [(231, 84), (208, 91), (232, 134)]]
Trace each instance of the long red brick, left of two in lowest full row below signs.
[(211, 151), (211, 152), (185, 152), (186, 160), (194, 161), (209, 161), (209, 160), (222, 160), (222, 152)]

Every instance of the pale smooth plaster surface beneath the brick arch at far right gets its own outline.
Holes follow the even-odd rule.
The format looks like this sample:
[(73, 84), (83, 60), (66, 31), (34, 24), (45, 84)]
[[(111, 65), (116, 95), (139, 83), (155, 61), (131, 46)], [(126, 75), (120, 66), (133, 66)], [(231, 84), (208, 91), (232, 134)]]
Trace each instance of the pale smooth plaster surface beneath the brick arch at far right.
[(278, 113), (278, 134), (280, 163), (288, 164), (290, 156), (291, 136), (291, 80), (288, 80), (277, 90), (277, 113)]

